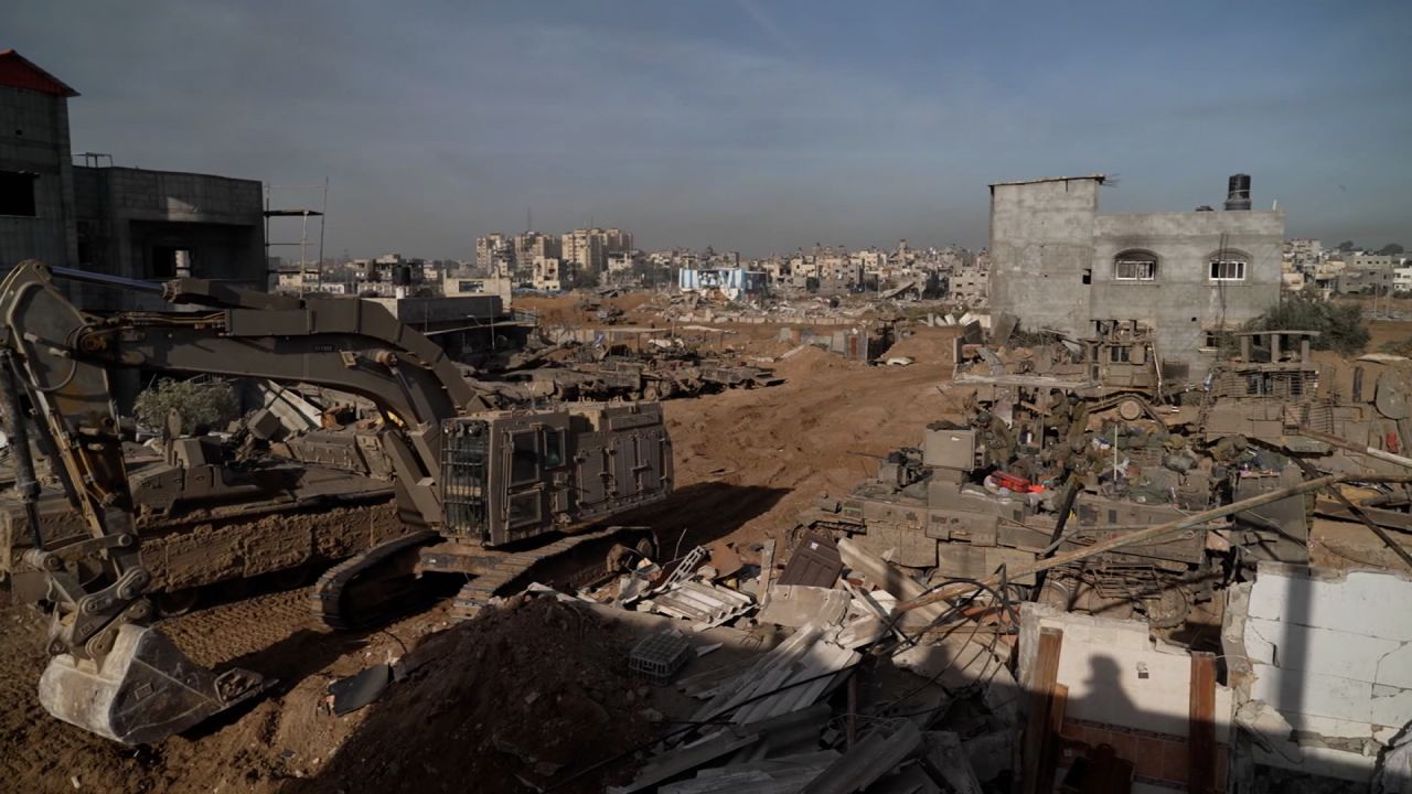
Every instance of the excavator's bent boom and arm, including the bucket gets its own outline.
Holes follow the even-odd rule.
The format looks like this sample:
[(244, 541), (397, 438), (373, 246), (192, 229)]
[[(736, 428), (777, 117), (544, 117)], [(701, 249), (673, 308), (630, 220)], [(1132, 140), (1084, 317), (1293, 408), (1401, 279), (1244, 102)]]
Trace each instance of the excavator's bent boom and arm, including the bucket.
[[(52, 275), (107, 285), (161, 290), (174, 304), (209, 311), (179, 314), (80, 312)], [(0, 284), (0, 389), (16, 446), (17, 487), (30, 513), (30, 568), (17, 595), (51, 612), (40, 682), (44, 706), (103, 736), (145, 743), (184, 730), (263, 688), (258, 675), (220, 675), (191, 663), (147, 629), (144, 568), (109, 370), (264, 377), (326, 386), (370, 398), (384, 418), (381, 441), (393, 461), (402, 513), (441, 526), (441, 422), (484, 403), (453, 362), (385, 308), (367, 301), (265, 295), (182, 278), (155, 285), (83, 271), (51, 271), (27, 260)], [(38, 493), (27, 421), (40, 429), (89, 535), (48, 547), (40, 531)]]

